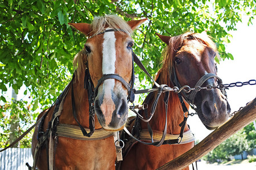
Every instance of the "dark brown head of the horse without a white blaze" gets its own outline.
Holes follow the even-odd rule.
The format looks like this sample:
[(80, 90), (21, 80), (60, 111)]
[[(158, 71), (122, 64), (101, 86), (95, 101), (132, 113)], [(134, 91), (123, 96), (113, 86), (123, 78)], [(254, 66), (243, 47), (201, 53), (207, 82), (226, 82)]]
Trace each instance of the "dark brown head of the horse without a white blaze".
[[(214, 63), (218, 52), (205, 31), (187, 32), (175, 37), (159, 34), (158, 36), (168, 45), (167, 58), (170, 62), (168, 69), (174, 86), (195, 87), (199, 84), (201, 87), (217, 86), (217, 82), (221, 81), (217, 77)], [(216, 129), (228, 120), (230, 105), (220, 89), (211, 88), (182, 95), (189, 104), (193, 105), (207, 129)]]

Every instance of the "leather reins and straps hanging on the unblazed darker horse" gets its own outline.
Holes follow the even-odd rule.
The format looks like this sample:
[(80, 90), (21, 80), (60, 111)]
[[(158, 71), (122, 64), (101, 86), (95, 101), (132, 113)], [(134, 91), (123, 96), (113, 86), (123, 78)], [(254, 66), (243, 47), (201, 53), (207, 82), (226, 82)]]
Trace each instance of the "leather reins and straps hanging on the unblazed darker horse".
[[(138, 57), (137, 57), (138, 58)], [(140, 66), (141, 67), (141, 66)], [(144, 67), (144, 66), (143, 66)], [(143, 69), (142, 69), (143, 70)], [(145, 69), (146, 70), (146, 69)], [(147, 73), (147, 70), (144, 71), (144, 73), (146, 73), (148, 76), (150, 76), (148, 73)], [(172, 71), (171, 71), (172, 70)], [(217, 71), (217, 66), (216, 66), (216, 71)], [(177, 75), (176, 75), (176, 71), (175, 71), (175, 67), (172, 66), (172, 69), (170, 69), (170, 79), (171, 79), (171, 82), (172, 84), (174, 85), (174, 87), (177, 87), (178, 89), (181, 88), (181, 85), (179, 83), (179, 80), (177, 79)], [(150, 76), (150, 78), (152, 79), (152, 77)], [(210, 78), (216, 78), (217, 79), (217, 82), (218, 84), (222, 84), (222, 80), (215, 74), (212, 74), (212, 73), (208, 73), (208, 74), (205, 74), (204, 76), (202, 76), (199, 81), (196, 83), (196, 86), (202, 86), (208, 79)], [(153, 79), (152, 79), (153, 80)], [(154, 80), (153, 80), (154, 81)], [(140, 143), (143, 143), (144, 145), (153, 145), (153, 146), (161, 146), (161, 145), (172, 145), (172, 144), (180, 144), (182, 139), (183, 139), (183, 134), (184, 134), (184, 128), (185, 128), (185, 124), (187, 122), (187, 119), (188, 119), (188, 116), (189, 115), (193, 115), (193, 114), (196, 114), (196, 113), (193, 113), (193, 114), (189, 114), (188, 112), (188, 109), (184, 103), (184, 100), (191, 106), (192, 109), (194, 109), (195, 111), (197, 111), (197, 108), (195, 107), (195, 97), (196, 97), (196, 94), (198, 91), (192, 91), (191, 94), (187, 94), (186, 92), (184, 91), (180, 91), (182, 93), (182, 95), (180, 94), (180, 92), (177, 92), (177, 95), (179, 96), (179, 100), (180, 100), (180, 103), (181, 103), (181, 107), (183, 109), (183, 112), (184, 112), (184, 119), (183, 121), (179, 124), (179, 126), (181, 127), (180, 129), (180, 134), (179, 134), (179, 137), (177, 139), (168, 139), (168, 140), (164, 140), (165, 137), (166, 137), (166, 134), (167, 134), (167, 110), (168, 110), (168, 96), (169, 96), (169, 91), (164, 91), (164, 88), (168, 88), (167, 85), (160, 85), (158, 83), (155, 83), (155, 86), (158, 87), (158, 94), (156, 95), (155, 97), (155, 100), (154, 100), (154, 103), (152, 104), (152, 107), (151, 107), (151, 112), (150, 112), (150, 116), (148, 118), (143, 118), (143, 116), (141, 116), (141, 114), (139, 114), (137, 111), (135, 111), (135, 109), (133, 107), (130, 107), (131, 111), (133, 111), (134, 113), (137, 114), (137, 118), (139, 118), (140, 120), (144, 121), (144, 122), (147, 122), (147, 126), (148, 126), (148, 133), (150, 134), (150, 137), (151, 137), (151, 142), (143, 142), (141, 141), (140, 139), (136, 138), (133, 136), (133, 134), (130, 133), (130, 131), (125, 127), (124, 130), (125, 132), (131, 137), (133, 138), (135, 141), (137, 142), (140, 142)], [(152, 88), (152, 89), (148, 89), (148, 90), (141, 90), (141, 91), (135, 91), (135, 94), (142, 94), (142, 93), (146, 93), (146, 92), (152, 92), (152, 91), (155, 91), (156, 89)], [(165, 109), (166, 109), (166, 120), (165, 120), (165, 125), (164, 125), (164, 131), (163, 131), (163, 134), (162, 134), (162, 138), (160, 139), (159, 142), (154, 142), (153, 140), (153, 130), (151, 129), (150, 127), (150, 124), (148, 124), (148, 122), (151, 120), (152, 116), (154, 116), (154, 113), (155, 113), (155, 109), (156, 109), (156, 105), (158, 103), (158, 100), (159, 100), (159, 97), (160, 95), (162, 94), (162, 92), (165, 92), (165, 96), (164, 96), (164, 104), (165, 104)], [(225, 92), (225, 89), (222, 88), (221, 89), (221, 92), (222, 94), (224, 94), (226, 96), (226, 92)], [(183, 100), (184, 99), (184, 100)], [(143, 104), (143, 107), (144, 105), (147, 104), (147, 103), (144, 103)], [(185, 113), (188, 113), (187, 116), (185, 116)], [(138, 125), (139, 126), (139, 125)], [(135, 129), (135, 128), (134, 128)], [(139, 128), (136, 129), (137, 131), (139, 130)], [(137, 132), (138, 133), (138, 132)], [(138, 134), (139, 136), (139, 134)]]

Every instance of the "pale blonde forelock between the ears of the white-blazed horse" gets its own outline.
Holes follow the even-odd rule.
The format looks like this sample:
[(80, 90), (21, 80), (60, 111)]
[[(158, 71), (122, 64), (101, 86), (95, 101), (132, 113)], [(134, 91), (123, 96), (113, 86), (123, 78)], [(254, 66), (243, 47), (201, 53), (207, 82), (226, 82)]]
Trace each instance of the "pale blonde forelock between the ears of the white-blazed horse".
[(105, 28), (122, 29), (123, 32), (120, 33), (126, 33), (127, 35), (133, 33), (127, 22), (117, 15), (96, 16), (90, 24), (92, 36), (103, 32)]

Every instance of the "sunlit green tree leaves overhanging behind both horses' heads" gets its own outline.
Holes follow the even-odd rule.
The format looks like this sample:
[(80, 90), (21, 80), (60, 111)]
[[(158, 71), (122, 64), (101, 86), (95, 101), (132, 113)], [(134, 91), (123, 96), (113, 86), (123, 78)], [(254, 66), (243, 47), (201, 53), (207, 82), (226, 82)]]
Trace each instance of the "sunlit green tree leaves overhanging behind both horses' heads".
[[(205, 29), (218, 46), (221, 58), (233, 59), (225, 43), (243, 14), (255, 15), (255, 0), (1, 0), (0, 1), (0, 89), (6, 103), (6, 86), (16, 93), (24, 84), (32, 96), (32, 111), (40, 104), (49, 107), (71, 80), (72, 59), (86, 38), (68, 26), (69, 22), (92, 22), (94, 16), (116, 14), (125, 20), (148, 18), (134, 35), (134, 52), (150, 74), (162, 62), (166, 46), (155, 35), (175, 36)], [(135, 67), (138, 82), (144, 74)], [(7, 85), (8, 84), (8, 85)], [(149, 85), (146, 78), (144, 86)], [(144, 86), (141, 86), (142, 88)]]

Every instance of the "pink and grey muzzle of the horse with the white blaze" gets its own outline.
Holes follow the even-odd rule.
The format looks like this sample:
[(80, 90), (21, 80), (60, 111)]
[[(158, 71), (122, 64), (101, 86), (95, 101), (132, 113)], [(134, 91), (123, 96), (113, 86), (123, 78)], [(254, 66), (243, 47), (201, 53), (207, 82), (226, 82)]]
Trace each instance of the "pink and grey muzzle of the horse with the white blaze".
[[(102, 128), (109, 131), (122, 130), (128, 117), (127, 91), (121, 83), (109, 88), (108, 83), (114, 80), (105, 80), (94, 101), (98, 121)], [(111, 86), (111, 85), (110, 85)]]

